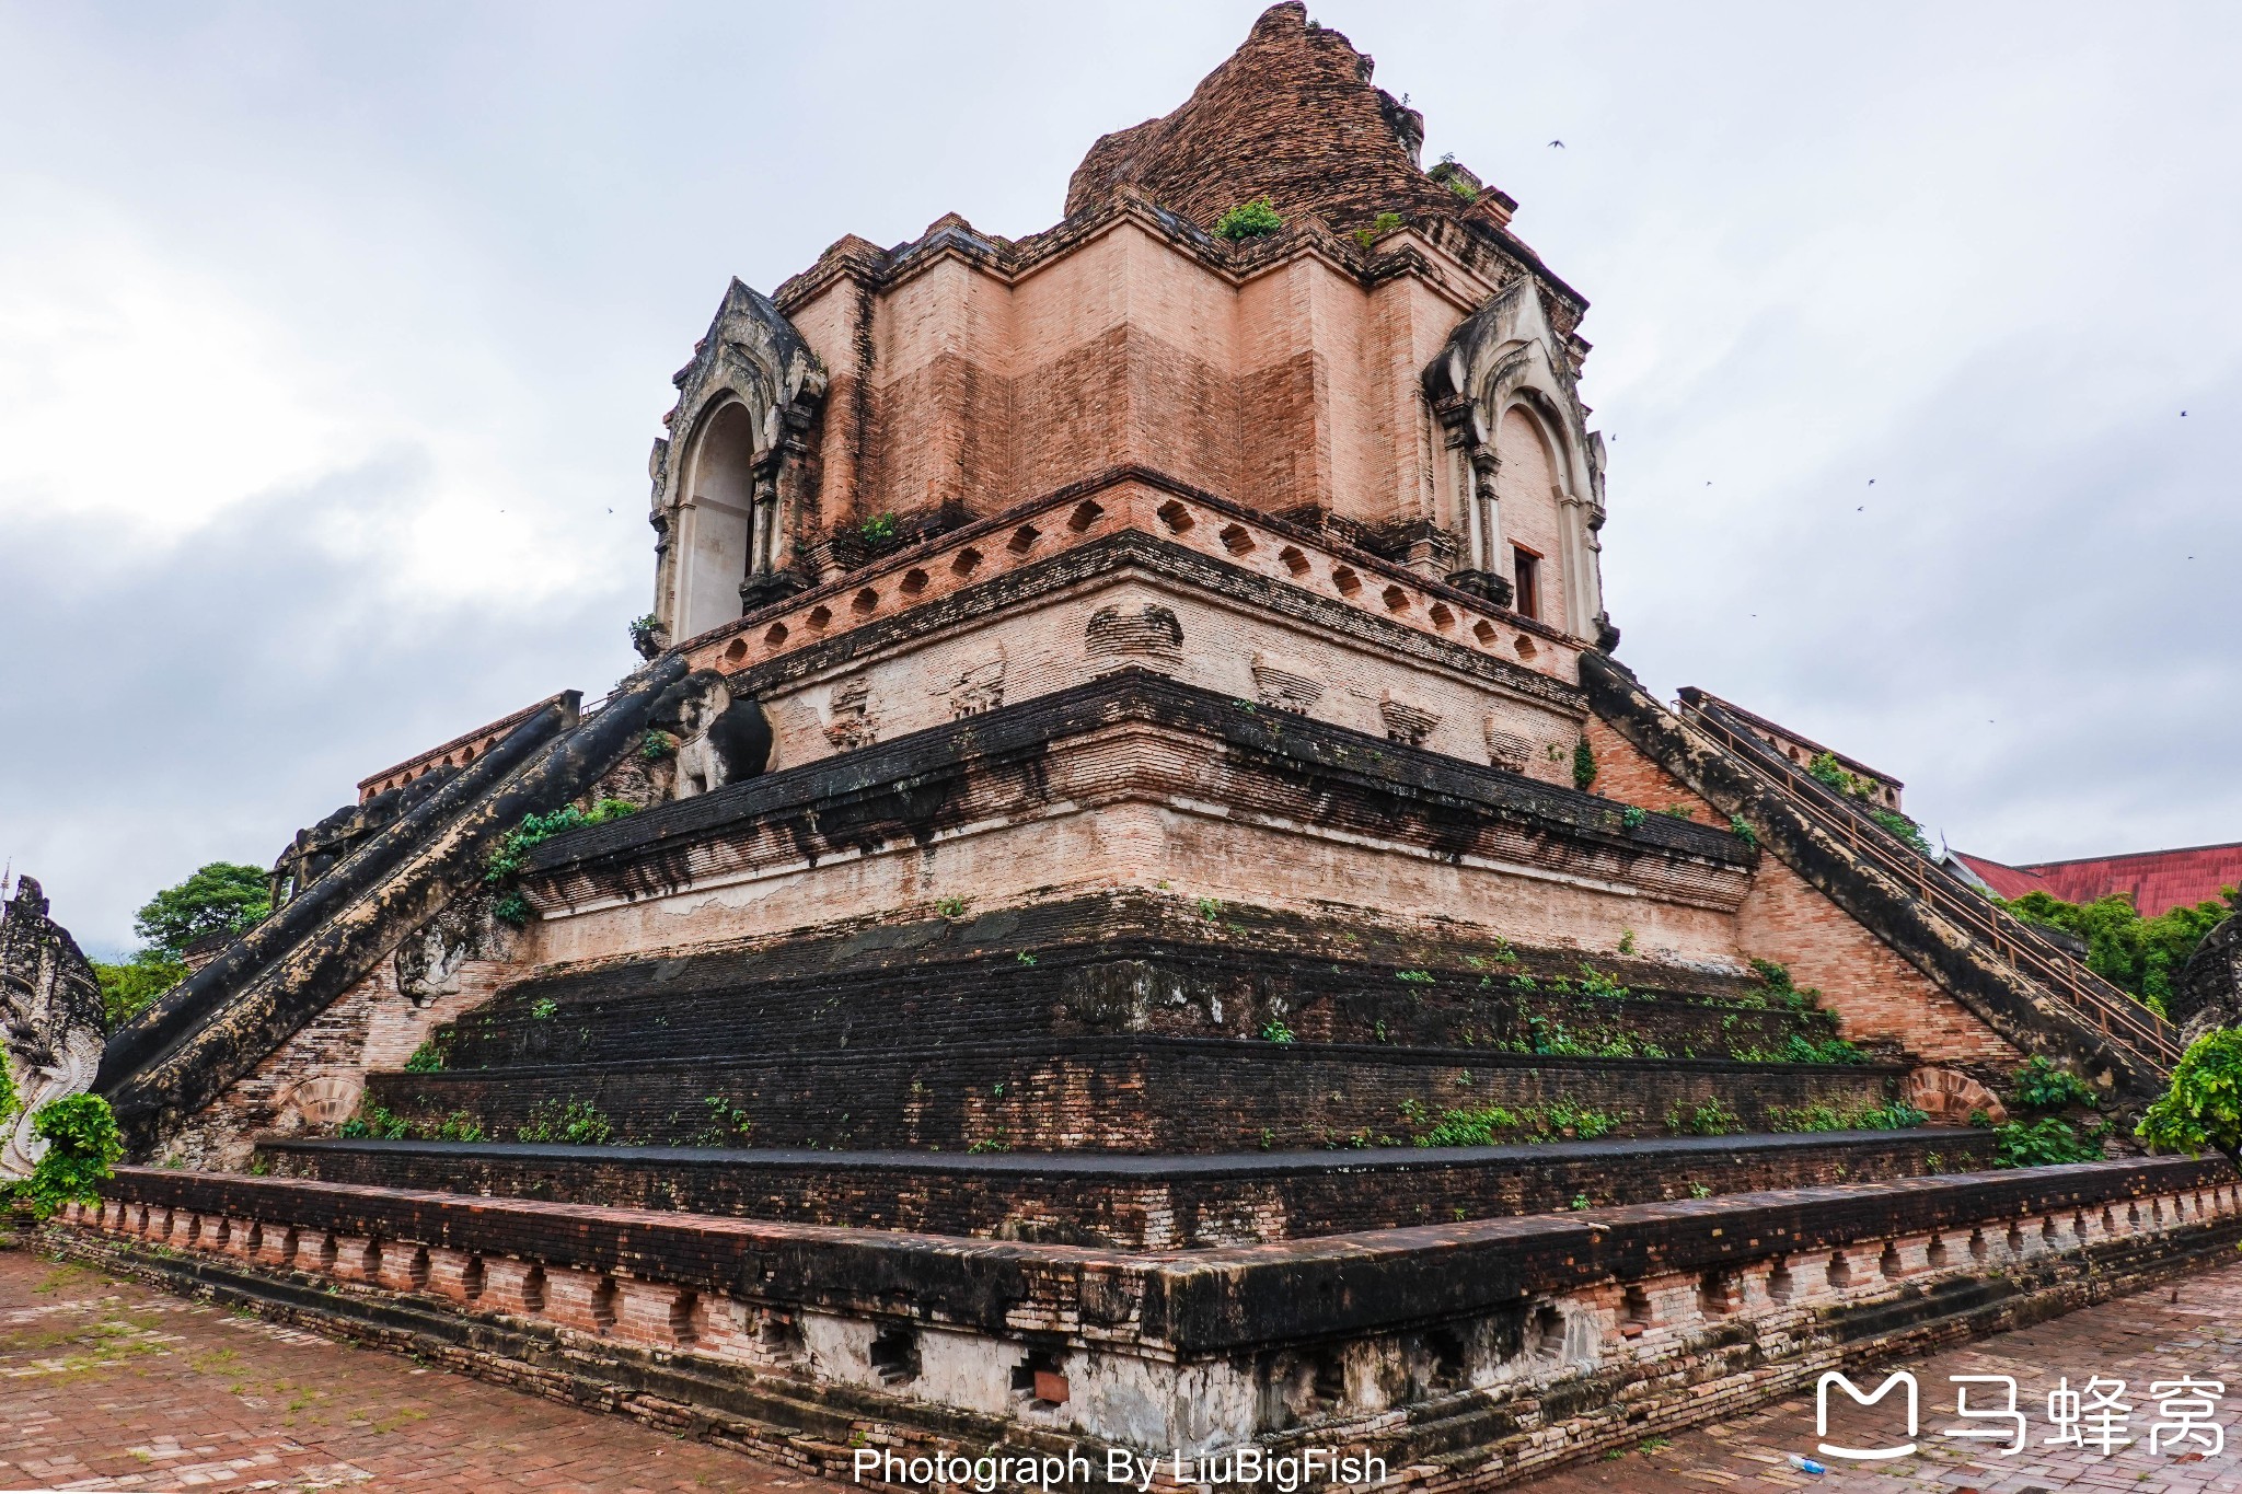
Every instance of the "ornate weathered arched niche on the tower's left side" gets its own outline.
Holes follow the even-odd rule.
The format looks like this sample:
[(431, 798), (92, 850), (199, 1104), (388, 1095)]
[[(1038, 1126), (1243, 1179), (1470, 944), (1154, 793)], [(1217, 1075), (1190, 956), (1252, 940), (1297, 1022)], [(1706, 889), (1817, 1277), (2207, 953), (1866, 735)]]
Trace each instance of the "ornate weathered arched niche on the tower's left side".
[(767, 296), (733, 280), (673, 383), (677, 443), (655, 441), (650, 461), (655, 616), (684, 641), (731, 623), (758, 591), (794, 589), (785, 535), (814, 499), (825, 370)]

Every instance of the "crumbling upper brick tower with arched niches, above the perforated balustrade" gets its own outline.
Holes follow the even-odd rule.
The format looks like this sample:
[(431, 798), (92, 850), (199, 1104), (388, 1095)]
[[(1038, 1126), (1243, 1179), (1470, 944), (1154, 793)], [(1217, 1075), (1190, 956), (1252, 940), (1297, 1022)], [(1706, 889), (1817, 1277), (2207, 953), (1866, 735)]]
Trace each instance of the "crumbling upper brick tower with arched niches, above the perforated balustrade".
[[(1278, 4), (1182, 108), (1101, 139), (1054, 228), (946, 215), (769, 298), (735, 282), (652, 457), (668, 636), (1132, 470), (1608, 638), (1585, 302), (1509, 197), (1419, 168), (1421, 119), (1370, 67)], [(1260, 197), (1280, 228), (1215, 231)]]

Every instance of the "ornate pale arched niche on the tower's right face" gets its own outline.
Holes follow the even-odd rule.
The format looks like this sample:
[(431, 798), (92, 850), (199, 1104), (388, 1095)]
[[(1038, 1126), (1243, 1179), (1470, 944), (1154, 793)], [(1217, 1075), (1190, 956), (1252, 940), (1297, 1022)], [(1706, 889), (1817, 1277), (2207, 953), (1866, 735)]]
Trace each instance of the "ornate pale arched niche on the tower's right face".
[(1511, 603), (1513, 555), (1529, 549), (1542, 594), (1536, 616), (1601, 641), (1603, 446), (1531, 280), (1511, 282), (1448, 334), (1424, 392), (1448, 452), (1442, 488), (1466, 576)]

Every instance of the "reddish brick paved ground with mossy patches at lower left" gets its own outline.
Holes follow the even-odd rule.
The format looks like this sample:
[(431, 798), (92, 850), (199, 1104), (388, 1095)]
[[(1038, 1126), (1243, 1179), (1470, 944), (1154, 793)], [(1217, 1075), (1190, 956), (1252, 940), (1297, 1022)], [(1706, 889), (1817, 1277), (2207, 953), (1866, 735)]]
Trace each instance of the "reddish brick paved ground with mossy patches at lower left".
[(839, 1485), (0, 1250), (0, 1490)]

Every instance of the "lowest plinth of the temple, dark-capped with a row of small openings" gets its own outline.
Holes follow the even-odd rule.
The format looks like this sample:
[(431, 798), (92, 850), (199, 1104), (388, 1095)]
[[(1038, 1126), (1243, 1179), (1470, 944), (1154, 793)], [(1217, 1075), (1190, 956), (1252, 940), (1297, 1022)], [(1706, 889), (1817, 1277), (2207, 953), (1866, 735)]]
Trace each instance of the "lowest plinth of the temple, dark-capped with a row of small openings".
[(1253, 1445), (1477, 1490), (2231, 1259), (2238, 1210), (2090, 1162), (1134, 1254), (123, 1169), (49, 1239), (843, 1478)]

